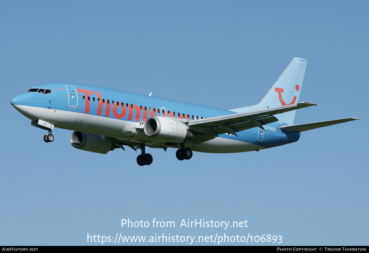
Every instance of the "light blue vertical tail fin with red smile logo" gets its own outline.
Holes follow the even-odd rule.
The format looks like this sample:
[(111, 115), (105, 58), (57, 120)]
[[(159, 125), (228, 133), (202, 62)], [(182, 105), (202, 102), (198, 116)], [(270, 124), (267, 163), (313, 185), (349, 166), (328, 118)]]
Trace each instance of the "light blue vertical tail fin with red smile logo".
[[(256, 105), (232, 109), (234, 112), (255, 111), (266, 108), (296, 104), (299, 101), (302, 82), (305, 75), (307, 60), (293, 58), (265, 97)], [(296, 111), (275, 115), (279, 121), (292, 125)]]

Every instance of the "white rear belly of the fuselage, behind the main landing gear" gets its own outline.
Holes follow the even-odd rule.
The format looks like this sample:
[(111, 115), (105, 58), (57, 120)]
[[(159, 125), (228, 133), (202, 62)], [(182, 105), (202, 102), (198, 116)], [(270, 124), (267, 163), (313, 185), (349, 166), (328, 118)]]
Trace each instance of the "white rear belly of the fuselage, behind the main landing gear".
[(265, 148), (248, 142), (217, 137), (210, 141), (197, 144), (196, 147), (191, 149), (193, 151), (206, 153), (238, 153)]

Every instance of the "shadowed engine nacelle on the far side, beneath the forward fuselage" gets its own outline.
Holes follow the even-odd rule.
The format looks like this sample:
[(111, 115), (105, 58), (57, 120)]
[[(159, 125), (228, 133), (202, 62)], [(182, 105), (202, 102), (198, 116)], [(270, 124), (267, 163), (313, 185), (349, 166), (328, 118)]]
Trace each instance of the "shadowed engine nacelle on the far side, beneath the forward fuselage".
[(115, 143), (110, 137), (73, 131), (70, 144), (76, 149), (106, 154), (115, 149)]

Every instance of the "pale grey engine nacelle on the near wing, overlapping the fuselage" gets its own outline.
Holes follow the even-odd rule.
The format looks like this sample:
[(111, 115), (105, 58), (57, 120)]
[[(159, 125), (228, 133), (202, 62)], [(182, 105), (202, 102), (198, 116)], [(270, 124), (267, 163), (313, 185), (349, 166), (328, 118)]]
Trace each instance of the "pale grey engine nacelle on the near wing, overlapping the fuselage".
[(144, 132), (148, 137), (176, 143), (183, 142), (192, 136), (187, 126), (182, 122), (161, 116), (148, 118), (145, 122)]

